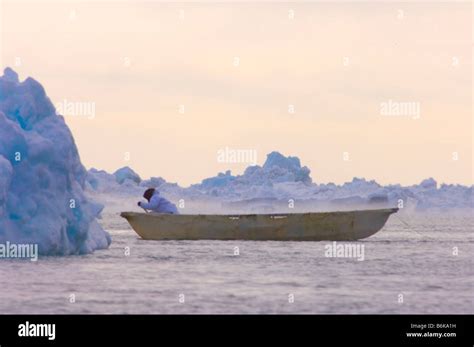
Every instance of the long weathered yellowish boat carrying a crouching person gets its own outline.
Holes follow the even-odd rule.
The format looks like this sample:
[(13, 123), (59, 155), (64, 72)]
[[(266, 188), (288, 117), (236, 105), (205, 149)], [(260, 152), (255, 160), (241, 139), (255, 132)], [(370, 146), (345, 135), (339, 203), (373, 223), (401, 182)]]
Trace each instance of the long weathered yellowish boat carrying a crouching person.
[(285, 214), (122, 212), (144, 240), (352, 241), (379, 231), (398, 208)]

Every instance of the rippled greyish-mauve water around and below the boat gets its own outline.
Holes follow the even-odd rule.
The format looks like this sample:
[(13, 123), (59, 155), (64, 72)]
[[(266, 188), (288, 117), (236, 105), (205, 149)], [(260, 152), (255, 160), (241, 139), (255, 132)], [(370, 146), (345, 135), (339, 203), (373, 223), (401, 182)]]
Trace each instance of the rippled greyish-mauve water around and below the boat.
[(358, 261), (328, 242), (143, 241), (109, 216), (108, 250), (1, 261), (0, 313), (472, 313), (473, 219), (392, 216)]

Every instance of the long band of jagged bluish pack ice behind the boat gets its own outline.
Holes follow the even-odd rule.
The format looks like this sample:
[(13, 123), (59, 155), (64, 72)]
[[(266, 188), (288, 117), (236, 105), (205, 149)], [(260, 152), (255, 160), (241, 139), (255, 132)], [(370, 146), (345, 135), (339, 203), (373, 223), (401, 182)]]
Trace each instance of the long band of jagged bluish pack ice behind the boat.
[(310, 173), (298, 157), (274, 151), (262, 166), (249, 166), (241, 175), (227, 170), (190, 187), (161, 177), (139, 181), (138, 174), (129, 167), (114, 174), (91, 169), (86, 192), (106, 204), (106, 213), (115, 214), (124, 206), (133, 209), (137, 197), (148, 187), (158, 188), (174, 202), (184, 201), (182, 213), (285, 213), (384, 207), (421, 212), (473, 208), (473, 186), (439, 185), (433, 178), (411, 186), (384, 186), (357, 177), (341, 185), (318, 184)]

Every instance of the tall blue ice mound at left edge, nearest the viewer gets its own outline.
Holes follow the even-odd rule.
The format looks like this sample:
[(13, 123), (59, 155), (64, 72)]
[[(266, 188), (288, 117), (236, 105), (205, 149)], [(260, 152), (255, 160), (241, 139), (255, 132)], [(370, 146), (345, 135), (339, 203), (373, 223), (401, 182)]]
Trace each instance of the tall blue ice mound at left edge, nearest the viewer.
[(41, 84), (0, 77), (0, 243), (38, 244), (40, 254), (107, 248), (102, 206), (84, 195), (87, 172)]

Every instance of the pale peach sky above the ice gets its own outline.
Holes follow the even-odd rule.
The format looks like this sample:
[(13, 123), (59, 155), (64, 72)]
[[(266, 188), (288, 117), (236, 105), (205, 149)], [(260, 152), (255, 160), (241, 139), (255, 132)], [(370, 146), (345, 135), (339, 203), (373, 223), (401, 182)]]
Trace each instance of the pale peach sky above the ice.
[(87, 168), (188, 185), (241, 173), (228, 147), (317, 183), (473, 182), (469, 2), (0, 2), (2, 69), (95, 106), (65, 116)]

